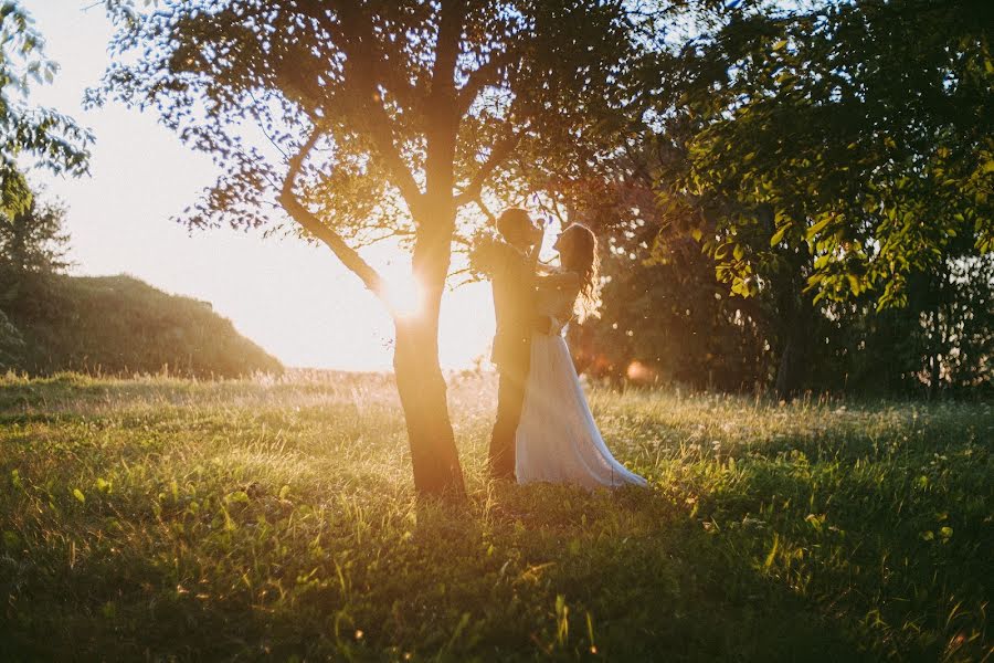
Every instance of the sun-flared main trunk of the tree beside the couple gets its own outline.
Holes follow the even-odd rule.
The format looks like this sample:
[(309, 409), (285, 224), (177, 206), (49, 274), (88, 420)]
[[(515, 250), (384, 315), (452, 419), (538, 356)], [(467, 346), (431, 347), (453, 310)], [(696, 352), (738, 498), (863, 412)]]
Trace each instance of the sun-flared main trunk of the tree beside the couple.
[[(444, 224), (443, 224), (444, 225)], [(451, 232), (419, 236), (414, 274), (421, 291), (415, 315), (398, 317), (393, 370), (408, 425), (414, 488), (419, 495), (462, 498), (463, 470), (448, 418), (438, 364), (438, 314), (448, 273)]]

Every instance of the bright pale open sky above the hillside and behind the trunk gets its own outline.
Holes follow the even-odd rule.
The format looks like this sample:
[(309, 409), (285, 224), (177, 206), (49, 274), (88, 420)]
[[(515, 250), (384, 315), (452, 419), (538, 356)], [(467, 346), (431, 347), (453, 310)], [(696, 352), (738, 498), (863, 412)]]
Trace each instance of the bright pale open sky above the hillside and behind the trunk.
[[(24, 0), (23, 7), (45, 38), (47, 57), (61, 67), (54, 84), (32, 90), (30, 102), (72, 116), (95, 135), (92, 177), (31, 173), (45, 188), (44, 200), (68, 208), (73, 274), (129, 274), (210, 302), (286, 366), (390, 369), (389, 316), (326, 248), (230, 229), (190, 234), (171, 218), (213, 182), (210, 159), (184, 147), (154, 113), (117, 103), (83, 109), (84, 91), (109, 62), (112, 25), (101, 3)], [(380, 249), (368, 257), (389, 277), (402, 256)], [(487, 356), (494, 333), (489, 286), (470, 284), (446, 295), (441, 326), (443, 368)]]

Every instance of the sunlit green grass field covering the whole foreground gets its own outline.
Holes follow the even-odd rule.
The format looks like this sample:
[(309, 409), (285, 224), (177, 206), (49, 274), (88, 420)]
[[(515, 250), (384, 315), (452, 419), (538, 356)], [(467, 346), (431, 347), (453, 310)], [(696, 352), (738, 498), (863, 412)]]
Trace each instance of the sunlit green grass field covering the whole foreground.
[(413, 498), (388, 378), (0, 377), (3, 660), (983, 661), (990, 404), (594, 390), (651, 490)]

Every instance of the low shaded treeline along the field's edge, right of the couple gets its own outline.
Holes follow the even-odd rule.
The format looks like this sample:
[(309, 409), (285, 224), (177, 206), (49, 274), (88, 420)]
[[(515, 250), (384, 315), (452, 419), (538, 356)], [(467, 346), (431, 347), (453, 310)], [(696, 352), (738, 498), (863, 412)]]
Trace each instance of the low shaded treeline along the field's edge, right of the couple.
[(730, 294), (692, 245), (666, 264), (604, 261), (600, 319), (571, 333), (580, 368), (712, 391), (921, 398), (994, 394), (994, 256), (909, 278), (905, 306)]

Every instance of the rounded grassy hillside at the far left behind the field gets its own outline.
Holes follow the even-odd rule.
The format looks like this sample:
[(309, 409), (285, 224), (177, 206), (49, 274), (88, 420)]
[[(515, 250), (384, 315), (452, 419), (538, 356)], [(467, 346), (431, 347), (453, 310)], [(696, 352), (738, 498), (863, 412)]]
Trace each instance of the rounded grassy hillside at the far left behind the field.
[(188, 377), (282, 372), (211, 305), (130, 276), (53, 276), (21, 293), (0, 319), (0, 368)]

